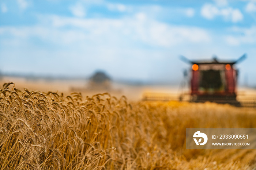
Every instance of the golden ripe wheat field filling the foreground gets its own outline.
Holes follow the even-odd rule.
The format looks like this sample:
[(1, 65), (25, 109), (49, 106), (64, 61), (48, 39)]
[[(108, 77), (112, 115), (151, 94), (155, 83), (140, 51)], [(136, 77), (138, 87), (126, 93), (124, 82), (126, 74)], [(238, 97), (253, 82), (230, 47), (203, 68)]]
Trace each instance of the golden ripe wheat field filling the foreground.
[(185, 149), (185, 128), (256, 128), (256, 110), (0, 89), (0, 169), (255, 169), (255, 150)]

